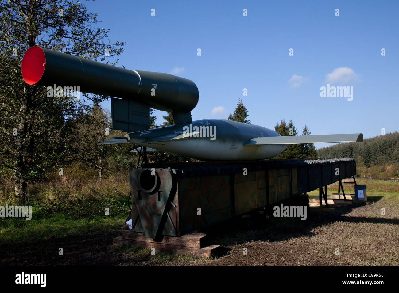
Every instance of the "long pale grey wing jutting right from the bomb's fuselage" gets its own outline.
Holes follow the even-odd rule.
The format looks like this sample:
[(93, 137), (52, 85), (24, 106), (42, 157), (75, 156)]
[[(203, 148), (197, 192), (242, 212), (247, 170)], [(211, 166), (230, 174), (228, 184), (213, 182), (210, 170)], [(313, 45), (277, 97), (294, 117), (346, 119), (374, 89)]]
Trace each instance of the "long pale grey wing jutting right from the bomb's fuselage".
[(301, 136), (271, 136), (253, 138), (244, 145), (259, 144), (315, 144), (318, 142), (363, 142), (363, 134), (322, 134)]

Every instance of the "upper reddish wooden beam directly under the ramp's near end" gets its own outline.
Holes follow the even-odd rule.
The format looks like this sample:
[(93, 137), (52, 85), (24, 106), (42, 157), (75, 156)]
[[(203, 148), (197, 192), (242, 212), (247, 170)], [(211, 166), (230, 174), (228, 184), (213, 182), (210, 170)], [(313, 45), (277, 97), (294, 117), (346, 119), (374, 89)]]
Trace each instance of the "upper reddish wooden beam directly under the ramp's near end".
[(158, 244), (168, 244), (175, 246), (185, 246), (192, 248), (201, 248), (205, 245), (206, 234), (204, 233), (188, 233), (182, 236), (162, 236), (158, 241), (152, 238), (147, 238), (146, 234), (134, 232), (132, 230), (122, 229), (122, 238), (126, 240), (150, 242)]

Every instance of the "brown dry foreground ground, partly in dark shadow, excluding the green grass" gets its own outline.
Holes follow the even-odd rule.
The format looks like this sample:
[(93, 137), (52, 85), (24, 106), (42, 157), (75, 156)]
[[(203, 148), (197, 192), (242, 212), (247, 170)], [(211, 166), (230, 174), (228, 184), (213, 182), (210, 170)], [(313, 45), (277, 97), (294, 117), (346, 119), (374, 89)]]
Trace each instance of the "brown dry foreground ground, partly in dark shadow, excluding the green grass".
[[(64, 238), (26, 239), (0, 247), (2, 265), (399, 265), (399, 198), (308, 212), (306, 220), (258, 215), (223, 223), (207, 232), (221, 249), (211, 259), (113, 246), (119, 226)], [(381, 215), (381, 208), (386, 215)], [(121, 222), (123, 219), (121, 218)], [(220, 231), (223, 231), (221, 233)], [(64, 254), (59, 256), (59, 247)], [(247, 248), (248, 254), (243, 255)], [(337, 248), (339, 255), (336, 255)]]

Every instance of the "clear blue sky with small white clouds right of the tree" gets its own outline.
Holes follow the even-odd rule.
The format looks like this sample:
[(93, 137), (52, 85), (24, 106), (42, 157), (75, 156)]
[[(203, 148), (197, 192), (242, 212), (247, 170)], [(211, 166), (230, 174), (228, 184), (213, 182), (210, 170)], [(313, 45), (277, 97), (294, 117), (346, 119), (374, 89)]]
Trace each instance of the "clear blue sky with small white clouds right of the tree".
[[(126, 42), (119, 65), (196, 83), (193, 120), (227, 118), (241, 98), (251, 123), (271, 129), (292, 119), (312, 134), (399, 130), (398, 1), (82, 3)], [(320, 97), (327, 83), (353, 87), (353, 100)], [(166, 112), (156, 115), (161, 124)]]

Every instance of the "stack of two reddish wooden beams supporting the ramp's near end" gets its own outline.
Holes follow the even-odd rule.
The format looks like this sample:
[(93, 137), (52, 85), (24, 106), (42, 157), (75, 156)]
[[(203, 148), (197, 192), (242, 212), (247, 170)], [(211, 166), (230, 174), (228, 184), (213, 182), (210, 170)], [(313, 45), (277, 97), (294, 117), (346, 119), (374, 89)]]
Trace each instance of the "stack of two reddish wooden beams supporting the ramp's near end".
[(114, 238), (114, 244), (142, 246), (144, 248), (155, 248), (156, 252), (172, 252), (209, 258), (220, 246), (205, 246), (205, 237), (206, 234), (193, 232), (179, 237), (162, 236), (162, 239), (155, 241), (152, 238), (147, 238), (144, 233), (122, 229), (122, 236)]

